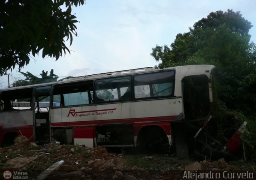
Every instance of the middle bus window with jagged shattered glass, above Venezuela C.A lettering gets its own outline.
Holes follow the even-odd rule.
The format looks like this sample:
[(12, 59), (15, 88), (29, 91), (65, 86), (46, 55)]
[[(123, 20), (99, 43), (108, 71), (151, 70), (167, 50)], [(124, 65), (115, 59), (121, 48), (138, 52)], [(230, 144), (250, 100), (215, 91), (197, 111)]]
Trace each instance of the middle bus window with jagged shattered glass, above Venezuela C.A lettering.
[(106, 78), (95, 81), (95, 102), (131, 99), (131, 76)]

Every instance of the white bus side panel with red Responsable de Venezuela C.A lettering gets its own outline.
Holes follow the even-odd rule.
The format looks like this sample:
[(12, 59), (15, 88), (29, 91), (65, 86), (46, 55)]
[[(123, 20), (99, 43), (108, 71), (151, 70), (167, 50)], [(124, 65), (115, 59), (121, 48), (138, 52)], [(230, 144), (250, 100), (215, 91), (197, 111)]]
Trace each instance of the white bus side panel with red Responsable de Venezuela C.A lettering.
[(182, 114), (181, 98), (54, 108), (50, 110), (51, 126), (69, 126), (69, 122), (77, 122), (77, 125), (83, 125), (79, 122), (88, 125), (100, 125), (168, 121), (178, 120), (180, 114)]

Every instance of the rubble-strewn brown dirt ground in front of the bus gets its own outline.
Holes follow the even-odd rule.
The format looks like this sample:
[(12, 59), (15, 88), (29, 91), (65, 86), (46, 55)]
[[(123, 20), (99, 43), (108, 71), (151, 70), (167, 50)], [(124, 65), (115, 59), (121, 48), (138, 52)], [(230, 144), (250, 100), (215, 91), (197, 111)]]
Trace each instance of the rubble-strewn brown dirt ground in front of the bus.
[[(204, 179), (256, 179), (255, 167), (252, 162), (227, 163), (224, 159), (214, 162), (179, 160), (173, 154), (136, 154), (124, 150), (109, 153), (100, 146), (90, 149), (50, 143), (43, 147), (29, 143), (24, 136), (18, 136), (10, 147), (0, 148), (0, 179), (7, 171), (12, 173), (13, 179), (17, 178), (17, 172), (20, 178), (47, 180), (203, 179), (199, 176), (202, 172), (209, 175)], [(193, 173), (197, 173), (196, 177)]]

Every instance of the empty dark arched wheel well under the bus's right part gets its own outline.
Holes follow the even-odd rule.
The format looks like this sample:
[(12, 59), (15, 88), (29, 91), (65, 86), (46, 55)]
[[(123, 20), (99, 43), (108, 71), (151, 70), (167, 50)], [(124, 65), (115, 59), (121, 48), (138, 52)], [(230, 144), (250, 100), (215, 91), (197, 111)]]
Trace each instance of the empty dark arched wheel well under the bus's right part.
[(154, 144), (168, 144), (168, 137), (161, 126), (143, 126), (137, 137), (137, 146), (151, 146)]

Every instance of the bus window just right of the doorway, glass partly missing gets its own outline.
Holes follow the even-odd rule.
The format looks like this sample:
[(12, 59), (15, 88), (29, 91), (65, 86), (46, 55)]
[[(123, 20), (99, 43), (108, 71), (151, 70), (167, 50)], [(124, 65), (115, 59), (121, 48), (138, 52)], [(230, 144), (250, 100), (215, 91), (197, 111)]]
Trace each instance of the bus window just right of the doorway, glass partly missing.
[(92, 81), (57, 85), (53, 91), (53, 107), (92, 103)]

